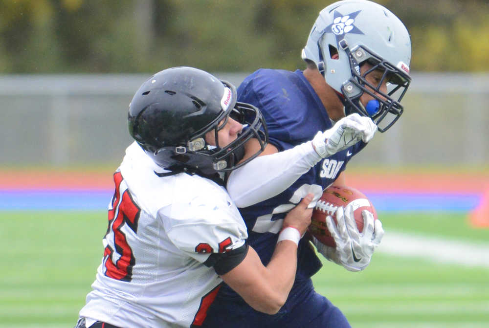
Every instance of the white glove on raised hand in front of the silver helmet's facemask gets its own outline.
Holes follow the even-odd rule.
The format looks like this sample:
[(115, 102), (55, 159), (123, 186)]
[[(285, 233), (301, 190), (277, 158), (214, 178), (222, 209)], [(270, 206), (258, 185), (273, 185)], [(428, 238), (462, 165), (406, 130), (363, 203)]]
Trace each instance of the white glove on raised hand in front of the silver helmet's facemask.
[(354, 113), (340, 119), (333, 128), (324, 132), (318, 131), (312, 139), (312, 145), (316, 153), (324, 158), (345, 150), (360, 140), (369, 142), (376, 131), (377, 125), (370, 117)]

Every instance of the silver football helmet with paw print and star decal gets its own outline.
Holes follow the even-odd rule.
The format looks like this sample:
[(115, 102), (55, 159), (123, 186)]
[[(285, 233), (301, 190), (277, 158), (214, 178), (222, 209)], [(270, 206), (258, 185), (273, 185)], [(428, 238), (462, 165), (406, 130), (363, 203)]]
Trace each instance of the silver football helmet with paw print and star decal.
[[(372, 118), (381, 132), (402, 114), (400, 100), (411, 82), (411, 39), (404, 24), (385, 7), (367, 0), (327, 6), (312, 26), (302, 59), (312, 61), (328, 85), (341, 93), (346, 114)], [(361, 74), (364, 62), (373, 67)], [(377, 69), (383, 76), (374, 86), (365, 76)], [(384, 81), (387, 93), (380, 91)], [(375, 98), (366, 106), (359, 101), (364, 92)]]

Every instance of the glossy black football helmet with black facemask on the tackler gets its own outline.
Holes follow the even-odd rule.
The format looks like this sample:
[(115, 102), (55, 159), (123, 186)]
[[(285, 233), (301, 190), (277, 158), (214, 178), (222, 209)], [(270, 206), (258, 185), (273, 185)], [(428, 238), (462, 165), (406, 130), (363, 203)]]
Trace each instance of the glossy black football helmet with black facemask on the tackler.
[[(236, 88), (193, 67), (162, 70), (134, 94), (129, 133), (159, 166), (174, 172), (213, 175), (241, 167), (267, 145), (268, 132), (259, 109), (236, 101)], [(244, 125), (229, 145), (219, 145), (218, 131), (232, 117)], [(214, 131), (217, 145), (205, 134)], [(261, 149), (238, 164), (244, 143), (256, 138)]]

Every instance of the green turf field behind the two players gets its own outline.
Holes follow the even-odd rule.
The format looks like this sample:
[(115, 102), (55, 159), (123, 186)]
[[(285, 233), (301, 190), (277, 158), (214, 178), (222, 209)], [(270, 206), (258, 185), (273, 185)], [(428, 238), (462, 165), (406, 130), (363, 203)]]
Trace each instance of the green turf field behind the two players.
[[(489, 229), (461, 214), (382, 214), (390, 230), (489, 245)], [(104, 212), (0, 212), (0, 328), (75, 325), (102, 257)], [(470, 256), (470, 254), (467, 254)], [(330, 263), (318, 292), (353, 327), (489, 327), (489, 268), (375, 254), (363, 272)]]

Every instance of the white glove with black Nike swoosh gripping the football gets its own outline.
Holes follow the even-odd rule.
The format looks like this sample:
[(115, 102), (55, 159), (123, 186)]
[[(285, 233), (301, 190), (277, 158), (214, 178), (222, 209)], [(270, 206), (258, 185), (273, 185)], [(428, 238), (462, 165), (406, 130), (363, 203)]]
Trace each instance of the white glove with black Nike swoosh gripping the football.
[(342, 265), (349, 271), (361, 271), (370, 263), (374, 250), (384, 236), (384, 230), (382, 222), (379, 219), (374, 221), (372, 213), (365, 210), (362, 212), (364, 228), (360, 233), (353, 211), (354, 208), (351, 205), (347, 205), (345, 210), (338, 207), (336, 210), (337, 225), (331, 216), (326, 218), (326, 224), (336, 247), (327, 246), (314, 237), (312, 237), (312, 243), (316, 246), (317, 251), (329, 261)]

